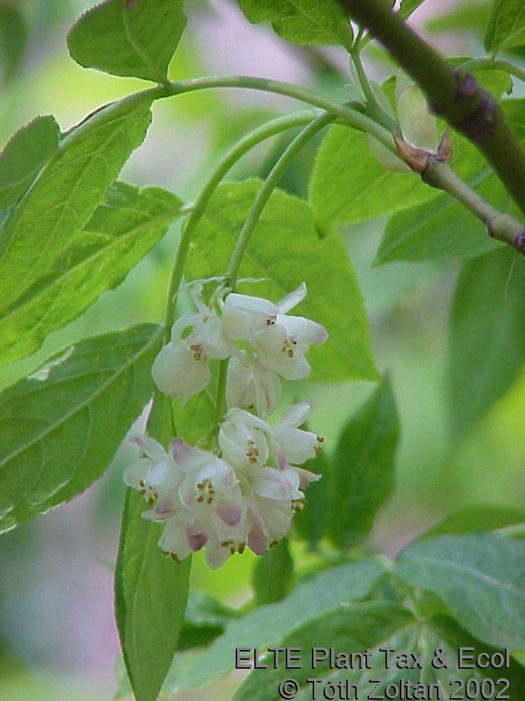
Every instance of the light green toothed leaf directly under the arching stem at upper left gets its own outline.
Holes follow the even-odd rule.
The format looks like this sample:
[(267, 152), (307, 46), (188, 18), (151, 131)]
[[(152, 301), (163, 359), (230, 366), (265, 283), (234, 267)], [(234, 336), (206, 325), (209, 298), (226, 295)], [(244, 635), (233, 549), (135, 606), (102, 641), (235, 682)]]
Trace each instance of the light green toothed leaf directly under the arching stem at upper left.
[(145, 100), (137, 94), (104, 107), (71, 132), (6, 219), (0, 231), (0, 311), (55, 275), (55, 261), (142, 143), (151, 120)]

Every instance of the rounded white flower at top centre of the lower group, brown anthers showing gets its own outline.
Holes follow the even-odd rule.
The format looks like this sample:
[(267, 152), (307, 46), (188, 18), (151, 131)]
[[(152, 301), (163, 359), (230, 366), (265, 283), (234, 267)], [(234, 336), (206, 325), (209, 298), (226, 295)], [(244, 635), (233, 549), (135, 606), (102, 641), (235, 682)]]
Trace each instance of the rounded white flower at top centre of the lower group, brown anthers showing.
[(219, 430), (222, 457), (236, 470), (268, 460), (268, 424), (243, 409), (230, 409)]

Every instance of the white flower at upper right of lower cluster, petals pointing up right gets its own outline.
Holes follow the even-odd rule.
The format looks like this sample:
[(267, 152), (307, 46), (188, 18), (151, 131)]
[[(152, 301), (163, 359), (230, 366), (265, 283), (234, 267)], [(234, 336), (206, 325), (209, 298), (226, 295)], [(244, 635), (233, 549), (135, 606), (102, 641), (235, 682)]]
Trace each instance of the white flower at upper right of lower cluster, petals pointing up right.
[[(315, 409), (316, 404), (313, 399), (293, 404), (282, 412), (278, 425), (270, 429), (270, 455), (276, 465), (283, 458), (289, 465), (302, 465), (320, 454), (324, 442), (322, 436), (299, 428)], [(315, 475), (315, 479), (318, 477)]]

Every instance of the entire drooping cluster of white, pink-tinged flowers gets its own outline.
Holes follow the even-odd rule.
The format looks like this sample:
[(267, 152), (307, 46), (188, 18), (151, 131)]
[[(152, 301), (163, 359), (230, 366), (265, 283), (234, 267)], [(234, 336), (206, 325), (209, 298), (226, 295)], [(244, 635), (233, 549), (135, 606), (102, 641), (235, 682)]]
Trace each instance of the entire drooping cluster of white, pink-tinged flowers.
[(124, 479), (151, 505), (144, 517), (165, 524), (158, 543), (165, 554), (180, 561), (205, 548), (207, 564), (217, 568), (246, 546), (262, 554), (285, 536), (305, 503), (303, 490), (319, 477), (299, 466), (321, 450), (322, 437), (299, 428), (315, 401), (288, 407), (275, 426), (266, 419), (280, 401), (280, 378), (308, 376), (305, 354), (327, 332), (288, 314), (306, 296), (304, 284), (278, 304), (231, 293), (211, 308), (201, 293), (194, 287), (198, 311), (173, 325), (152, 374), (158, 388), (186, 402), (210, 381), (209, 361), (230, 358), (218, 454), (180, 438), (165, 451), (135, 436), (145, 457)]

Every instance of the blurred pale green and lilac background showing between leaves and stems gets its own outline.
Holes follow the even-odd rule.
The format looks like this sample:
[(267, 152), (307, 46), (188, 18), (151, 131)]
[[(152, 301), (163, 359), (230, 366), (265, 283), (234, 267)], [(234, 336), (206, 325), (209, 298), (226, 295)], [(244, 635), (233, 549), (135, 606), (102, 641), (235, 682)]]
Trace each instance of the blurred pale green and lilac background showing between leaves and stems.
[[(67, 29), (89, 0), (2, 0), (20, 9), (23, 24), (1, 31), (0, 141), (34, 116), (54, 114), (62, 130), (104, 102), (144, 83), (86, 70), (67, 53)], [(253, 27), (234, 0), (186, 0), (188, 27), (171, 66), (173, 79), (243, 73), (313, 86), (339, 100), (351, 94), (343, 50), (308, 49), (282, 41), (269, 27)], [(483, 55), (484, 0), (427, 0), (414, 25), (447, 55)], [(5, 29), (5, 27), (4, 27)], [(6, 39), (7, 37), (7, 39)], [(20, 54), (20, 62), (15, 60)], [(370, 45), (364, 55), (381, 80), (393, 67)], [(519, 60), (519, 57), (514, 57)], [(519, 95), (519, 86), (515, 88)], [(523, 93), (523, 91), (522, 91)], [(189, 201), (219, 155), (236, 139), (292, 100), (243, 91), (209, 91), (165, 100), (154, 107), (144, 146), (123, 177), (158, 184)], [(264, 177), (289, 137), (276, 137), (238, 165), (231, 177)], [(282, 186), (302, 196), (315, 144), (289, 168)], [(374, 547), (386, 554), (425, 527), (465, 505), (522, 505), (525, 373), (473, 430), (451, 442), (446, 421), (446, 344), (449, 303), (459, 264), (390, 264), (371, 268), (384, 222), (343, 231), (371, 322), (374, 353), (390, 371), (402, 423), (397, 488), (381, 511)], [(29, 360), (0, 370), (0, 388), (32, 372), (58, 348), (83, 336), (161, 320), (179, 229), (104, 294), (79, 320), (52, 334)], [(479, 372), (483, 372), (480, 367)], [(334, 444), (343, 422), (369, 394), (370, 385), (317, 387), (315, 427)], [(116, 690), (118, 637), (113, 615), (111, 563), (116, 557), (124, 486), (132, 451), (121, 447), (106, 475), (86, 494), (0, 538), (0, 700), (95, 701)], [(308, 556), (292, 543), (299, 568)], [(199, 557), (193, 586), (238, 606), (250, 597), (254, 557), (232, 558), (212, 573)], [(184, 698), (227, 699), (235, 680)]]

